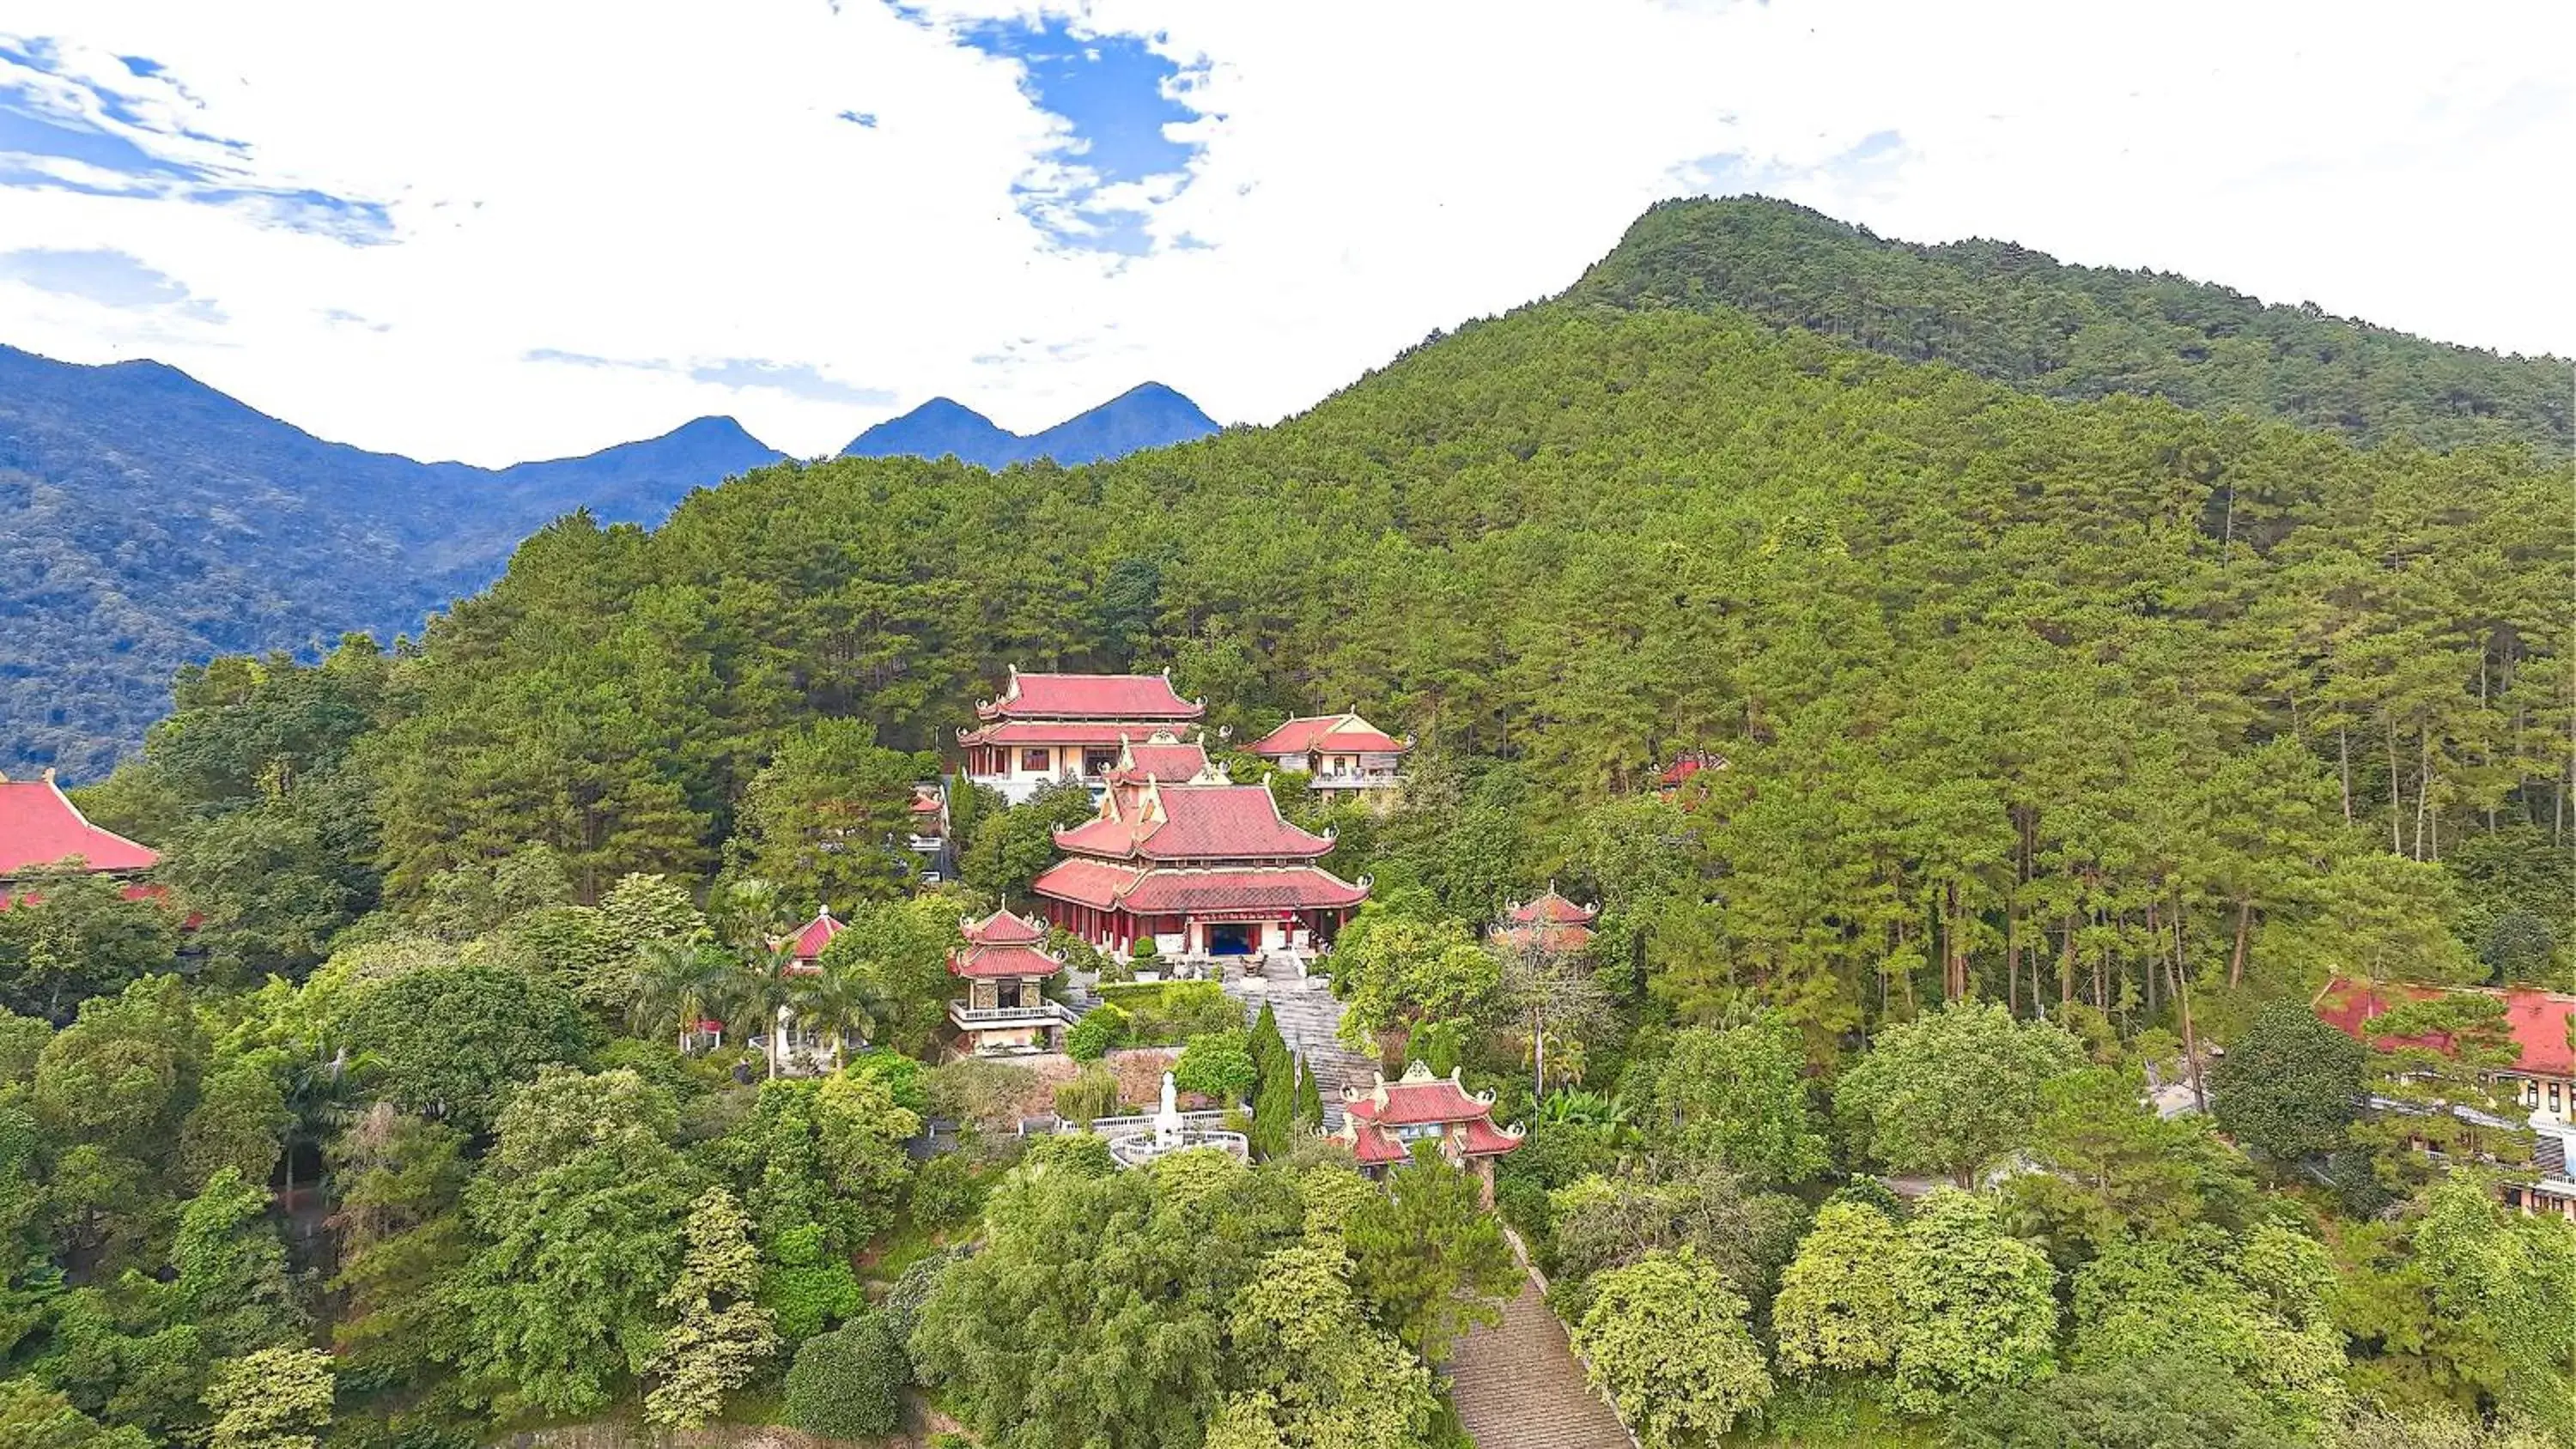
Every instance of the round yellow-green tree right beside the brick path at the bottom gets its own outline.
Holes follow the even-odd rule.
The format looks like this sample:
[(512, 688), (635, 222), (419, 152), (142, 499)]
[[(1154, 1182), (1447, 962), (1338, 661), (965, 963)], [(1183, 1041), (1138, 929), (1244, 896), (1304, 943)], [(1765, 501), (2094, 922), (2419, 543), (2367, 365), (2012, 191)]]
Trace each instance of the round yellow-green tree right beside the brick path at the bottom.
[(1713, 1444), (1772, 1392), (1744, 1295), (1690, 1248), (1592, 1279), (1574, 1351), (1646, 1449)]

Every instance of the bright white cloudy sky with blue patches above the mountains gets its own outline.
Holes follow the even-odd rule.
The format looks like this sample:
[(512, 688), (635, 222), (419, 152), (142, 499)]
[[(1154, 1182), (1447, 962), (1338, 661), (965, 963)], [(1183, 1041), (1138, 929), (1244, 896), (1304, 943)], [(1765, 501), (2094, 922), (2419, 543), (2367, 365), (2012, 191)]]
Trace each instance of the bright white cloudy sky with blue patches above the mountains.
[(510, 463), (1301, 412), (1785, 196), (2576, 355), (2563, 0), (8, 0), (0, 342)]

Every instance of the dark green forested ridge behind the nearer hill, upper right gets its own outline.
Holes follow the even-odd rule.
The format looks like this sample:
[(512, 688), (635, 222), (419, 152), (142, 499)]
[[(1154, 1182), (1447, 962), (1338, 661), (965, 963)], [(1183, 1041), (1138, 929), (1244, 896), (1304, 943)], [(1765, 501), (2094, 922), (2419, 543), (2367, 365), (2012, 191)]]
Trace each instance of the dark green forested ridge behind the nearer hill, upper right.
[(2530, 443), (2563, 461), (2576, 440), (2566, 358), (2427, 342), (2172, 273), (2074, 268), (2012, 242), (1896, 242), (1785, 201), (1667, 201), (1566, 299), (1739, 309), (2048, 396), (2166, 396), (2354, 443)]

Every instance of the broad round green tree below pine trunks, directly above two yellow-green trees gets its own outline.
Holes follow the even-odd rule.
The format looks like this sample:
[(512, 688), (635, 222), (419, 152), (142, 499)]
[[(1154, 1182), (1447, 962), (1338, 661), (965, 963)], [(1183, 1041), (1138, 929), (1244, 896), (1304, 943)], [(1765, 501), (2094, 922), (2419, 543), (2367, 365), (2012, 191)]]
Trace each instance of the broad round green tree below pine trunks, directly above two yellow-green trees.
[(1978, 1168), (2030, 1143), (2040, 1086), (2079, 1066), (2081, 1042), (2056, 1024), (1953, 1001), (1880, 1032), (1842, 1073), (1834, 1114), (1870, 1158), (1973, 1186)]

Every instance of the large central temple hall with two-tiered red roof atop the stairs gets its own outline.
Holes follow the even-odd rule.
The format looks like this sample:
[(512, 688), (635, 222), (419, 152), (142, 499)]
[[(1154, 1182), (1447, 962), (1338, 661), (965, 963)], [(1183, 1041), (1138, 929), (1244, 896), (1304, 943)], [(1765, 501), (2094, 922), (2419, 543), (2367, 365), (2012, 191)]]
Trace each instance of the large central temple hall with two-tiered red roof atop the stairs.
[(1368, 880), (1316, 865), (1332, 839), (1288, 824), (1267, 788), (1133, 780), (1141, 749), (1154, 746), (1128, 746), (1090, 821), (1056, 831), (1064, 860), (1030, 885), (1048, 921), (1121, 957), (1151, 937), (1175, 963), (1280, 952), (1303, 965), (1368, 898)]

